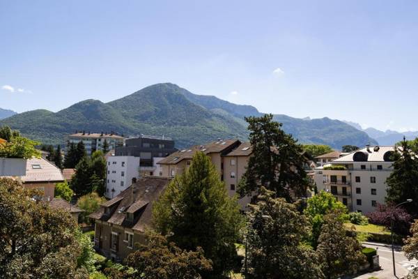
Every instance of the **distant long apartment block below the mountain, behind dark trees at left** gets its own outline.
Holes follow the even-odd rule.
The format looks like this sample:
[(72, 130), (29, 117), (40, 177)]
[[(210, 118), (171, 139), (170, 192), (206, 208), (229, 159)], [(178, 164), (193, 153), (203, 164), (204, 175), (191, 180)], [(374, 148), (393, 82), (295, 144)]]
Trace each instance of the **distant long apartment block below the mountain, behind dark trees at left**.
[(123, 146), (125, 137), (116, 133), (86, 133), (84, 131), (68, 136), (69, 143), (78, 144), (79, 142), (83, 142), (86, 152), (89, 155), (96, 150), (102, 150), (104, 140), (106, 140), (107, 144), (109, 144), (108, 149), (111, 150), (116, 147)]

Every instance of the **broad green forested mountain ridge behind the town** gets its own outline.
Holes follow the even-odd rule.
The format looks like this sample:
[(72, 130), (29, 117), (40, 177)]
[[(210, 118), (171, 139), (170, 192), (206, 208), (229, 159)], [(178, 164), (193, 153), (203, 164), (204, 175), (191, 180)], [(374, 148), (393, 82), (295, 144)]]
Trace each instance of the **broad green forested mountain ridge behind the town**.
[[(75, 130), (164, 135), (179, 147), (222, 138), (247, 140), (244, 116), (261, 115), (251, 105), (236, 105), (215, 96), (193, 94), (176, 84), (154, 84), (109, 103), (84, 100), (59, 112), (33, 110), (0, 121), (45, 144), (63, 144)], [(374, 142), (366, 133), (338, 120), (296, 119), (274, 115), (284, 130), (302, 143), (363, 146)]]

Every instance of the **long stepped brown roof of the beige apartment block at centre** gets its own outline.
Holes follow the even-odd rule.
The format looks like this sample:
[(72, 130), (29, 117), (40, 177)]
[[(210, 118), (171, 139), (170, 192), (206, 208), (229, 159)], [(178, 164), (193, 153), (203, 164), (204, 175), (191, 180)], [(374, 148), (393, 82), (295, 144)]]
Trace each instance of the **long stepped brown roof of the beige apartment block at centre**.
[(160, 160), (157, 164), (171, 164), (175, 165), (181, 160), (191, 159), (194, 156), (194, 153), (197, 151), (202, 151), (205, 154), (210, 153), (222, 153), (226, 149), (232, 148), (234, 145), (240, 144), (239, 140), (219, 140), (215, 142), (209, 142), (208, 144), (195, 145), (187, 149), (182, 149), (180, 151), (174, 152), (166, 158)]

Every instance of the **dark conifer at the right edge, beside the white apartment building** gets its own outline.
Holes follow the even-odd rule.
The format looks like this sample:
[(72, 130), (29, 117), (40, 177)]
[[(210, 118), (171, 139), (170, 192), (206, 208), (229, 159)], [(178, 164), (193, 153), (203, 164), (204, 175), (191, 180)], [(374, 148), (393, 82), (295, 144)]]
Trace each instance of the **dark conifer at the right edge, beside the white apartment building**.
[(394, 171), (386, 180), (386, 202), (398, 204), (407, 199), (412, 202), (405, 204), (405, 209), (411, 214), (418, 212), (418, 160), (412, 153), (408, 142), (403, 140), (401, 148), (394, 150)]

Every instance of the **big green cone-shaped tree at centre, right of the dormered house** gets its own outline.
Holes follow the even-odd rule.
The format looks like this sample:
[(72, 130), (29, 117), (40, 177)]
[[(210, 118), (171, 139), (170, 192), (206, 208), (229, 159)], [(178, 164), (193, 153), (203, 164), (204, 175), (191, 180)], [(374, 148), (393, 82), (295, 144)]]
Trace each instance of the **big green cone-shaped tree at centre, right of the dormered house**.
[(189, 169), (169, 183), (154, 204), (153, 220), (158, 232), (169, 235), (169, 241), (181, 249), (203, 248), (205, 257), (213, 262), (213, 271), (206, 278), (231, 271), (242, 216), (238, 202), (226, 193), (204, 153), (196, 153)]

